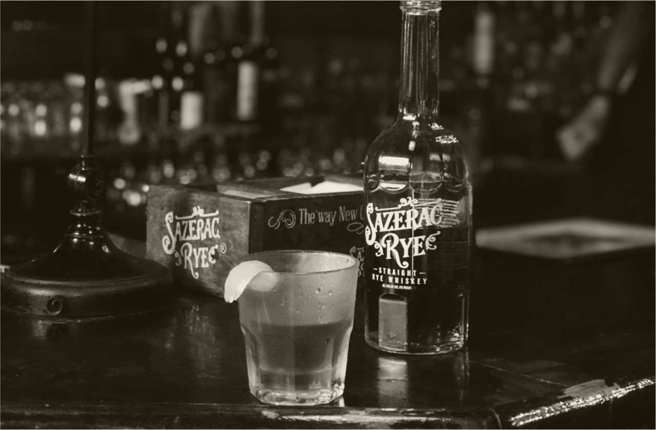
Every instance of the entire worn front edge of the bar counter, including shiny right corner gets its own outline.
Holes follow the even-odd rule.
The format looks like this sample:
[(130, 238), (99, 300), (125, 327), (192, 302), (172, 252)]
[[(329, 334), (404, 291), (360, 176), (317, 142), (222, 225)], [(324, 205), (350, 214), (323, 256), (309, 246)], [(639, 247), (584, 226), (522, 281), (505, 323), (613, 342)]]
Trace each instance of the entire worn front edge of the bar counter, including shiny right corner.
[[(492, 408), (353, 408), (148, 402), (3, 402), (2, 428), (522, 428), (560, 427), (594, 410), (601, 418), (654, 405), (656, 376), (594, 379)], [(601, 413), (600, 413), (601, 412)], [(652, 414), (653, 415), (653, 414)]]

